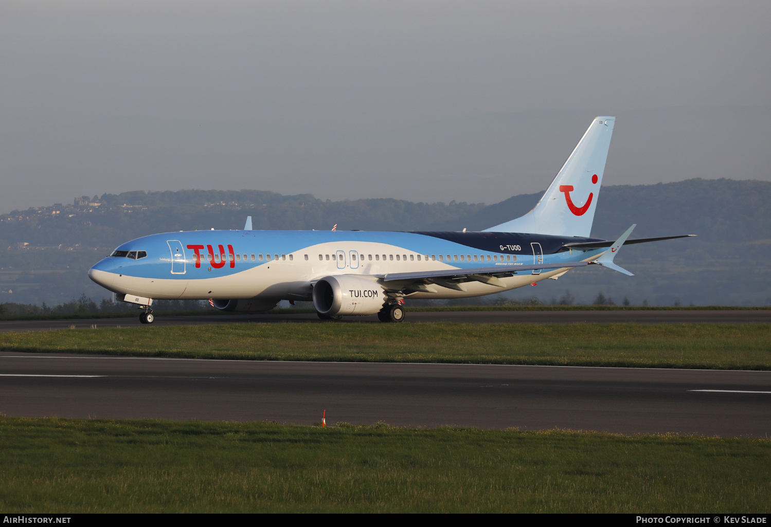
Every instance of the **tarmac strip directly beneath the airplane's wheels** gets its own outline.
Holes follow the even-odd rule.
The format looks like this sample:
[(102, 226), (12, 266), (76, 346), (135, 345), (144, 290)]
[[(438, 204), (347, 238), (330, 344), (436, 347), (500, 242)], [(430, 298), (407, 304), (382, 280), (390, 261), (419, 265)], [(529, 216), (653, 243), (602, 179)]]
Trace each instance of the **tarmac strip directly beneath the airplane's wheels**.
[[(456, 322), (465, 324), (771, 324), (771, 310), (609, 310), (609, 311), (418, 311), (408, 312), (408, 322)], [(315, 314), (237, 314), (164, 317), (154, 326), (204, 324), (251, 324), (314, 322), (318, 324), (382, 324), (370, 317), (344, 317), (321, 321)], [(130, 318), (92, 318), (56, 321), (0, 321), (0, 333), (49, 331), (69, 327), (142, 327), (139, 314)]]

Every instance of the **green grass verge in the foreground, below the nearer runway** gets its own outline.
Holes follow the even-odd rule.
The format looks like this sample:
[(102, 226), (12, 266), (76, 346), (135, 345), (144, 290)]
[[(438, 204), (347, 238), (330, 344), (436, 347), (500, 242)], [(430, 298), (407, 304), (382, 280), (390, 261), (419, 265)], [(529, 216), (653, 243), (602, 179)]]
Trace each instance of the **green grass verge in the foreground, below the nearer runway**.
[(771, 441), (0, 418), (21, 512), (762, 512)]

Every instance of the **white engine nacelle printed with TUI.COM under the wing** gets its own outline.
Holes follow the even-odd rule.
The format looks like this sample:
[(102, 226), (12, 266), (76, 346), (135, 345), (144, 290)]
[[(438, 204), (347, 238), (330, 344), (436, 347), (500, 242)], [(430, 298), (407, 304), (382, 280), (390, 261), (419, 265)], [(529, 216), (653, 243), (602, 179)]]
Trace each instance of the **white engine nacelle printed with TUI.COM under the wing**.
[(386, 300), (380, 284), (363, 278), (324, 277), (313, 287), (313, 306), (330, 317), (375, 314)]

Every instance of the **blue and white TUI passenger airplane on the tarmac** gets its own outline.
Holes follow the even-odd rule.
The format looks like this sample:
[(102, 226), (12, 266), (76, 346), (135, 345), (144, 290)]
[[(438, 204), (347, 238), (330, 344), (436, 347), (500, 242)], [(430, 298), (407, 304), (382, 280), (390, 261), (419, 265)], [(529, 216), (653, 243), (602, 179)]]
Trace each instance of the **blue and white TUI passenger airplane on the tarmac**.
[[(410, 298), (500, 293), (568, 270), (614, 263), (629, 240), (590, 237), (615, 118), (592, 120), (540, 201), (523, 217), (480, 232), (360, 230), (194, 230), (123, 243), (89, 277), (136, 304), (152, 324), (153, 301), (209, 300), (223, 311), (266, 311), (280, 300), (311, 300), (318, 317), (377, 314), (405, 319)], [(337, 227), (335, 225), (335, 227)]]

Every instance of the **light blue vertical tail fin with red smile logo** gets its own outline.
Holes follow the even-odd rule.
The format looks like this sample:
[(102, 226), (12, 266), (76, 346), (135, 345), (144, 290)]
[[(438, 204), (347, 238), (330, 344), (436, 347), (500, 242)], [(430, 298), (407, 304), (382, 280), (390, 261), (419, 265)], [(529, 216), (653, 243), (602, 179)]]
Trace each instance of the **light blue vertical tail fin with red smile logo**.
[(594, 118), (533, 210), (485, 230), (588, 237), (615, 120), (609, 116)]

